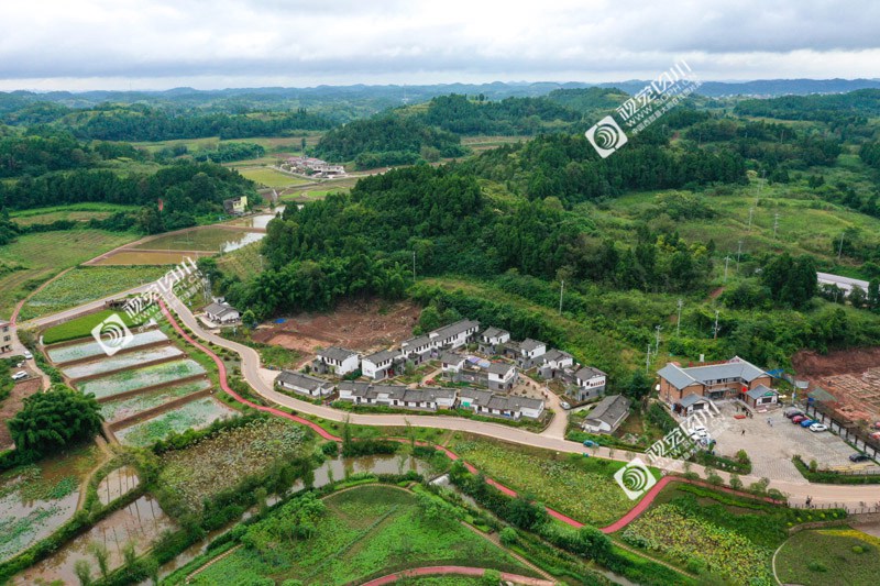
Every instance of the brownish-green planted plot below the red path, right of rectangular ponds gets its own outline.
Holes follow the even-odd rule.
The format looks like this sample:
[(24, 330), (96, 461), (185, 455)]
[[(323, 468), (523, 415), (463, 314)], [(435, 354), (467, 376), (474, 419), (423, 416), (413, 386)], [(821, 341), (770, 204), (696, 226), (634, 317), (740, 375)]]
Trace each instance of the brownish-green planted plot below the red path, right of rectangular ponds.
[(186, 509), (198, 511), (206, 497), (232, 488), (274, 462), (307, 455), (312, 447), (305, 428), (284, 419), (257, 419), (223, 429), (186, 450), (162, 456), (160, 485)]

